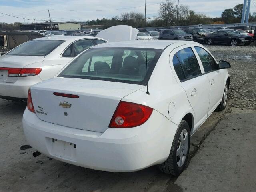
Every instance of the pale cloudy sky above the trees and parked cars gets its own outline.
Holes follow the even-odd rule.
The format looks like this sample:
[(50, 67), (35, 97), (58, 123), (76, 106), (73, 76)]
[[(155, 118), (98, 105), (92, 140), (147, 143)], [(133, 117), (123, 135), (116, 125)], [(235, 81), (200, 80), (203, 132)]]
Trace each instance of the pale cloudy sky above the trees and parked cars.
[[(146, 0), (146, 17), (158, 16), (160, 3), (164, 0)], [(177, 2), (177, 0), (174, 0)], [(250, 12), (256, 12), (256, 0), (252, 0)], [(224, 9), (233, 8), (244, 0), (180, 0), (195, 12), (210, 17), (221, 16)], [(144, 13), (144, 0), (0, 0), (0, 12), (25, 19), (0, 14), (0, 22), (46, 22), (50, 9), (53, 21), (86, 21), (112, 18), (124, 12)]]

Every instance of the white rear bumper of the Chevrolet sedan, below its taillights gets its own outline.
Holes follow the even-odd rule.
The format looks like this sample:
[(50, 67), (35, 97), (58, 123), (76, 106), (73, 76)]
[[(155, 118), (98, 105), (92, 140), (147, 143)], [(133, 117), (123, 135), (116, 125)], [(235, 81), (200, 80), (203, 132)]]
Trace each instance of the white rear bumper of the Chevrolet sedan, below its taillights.
[[(77, 166), (112, 172), (132, 172), (164, 162), (177, 127), (155, 110), (141, 126), (108, 128), (104, 133), (44, 122), (28, 109), (23, 116), (26, 139), (42, 154)], [(70, 149), (72, 158), (56, 155), (52, 139), (75, 144), (76, 148)], [(64, 147), (60, 151), (65, 151)]]

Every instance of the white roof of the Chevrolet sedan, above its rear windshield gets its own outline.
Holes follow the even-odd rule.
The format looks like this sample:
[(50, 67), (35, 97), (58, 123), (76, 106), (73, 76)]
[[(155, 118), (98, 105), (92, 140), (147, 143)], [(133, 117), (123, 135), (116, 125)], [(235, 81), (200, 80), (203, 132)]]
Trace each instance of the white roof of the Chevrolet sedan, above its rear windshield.
[[(164, 50), (171, 44), (177, 43), (179, 46), (189, 44), (189, 41), (178, 41), (178, 40), (148, 40), (147, 48), (151, 49), (162, 49)], [(194, 43), (194, 42), (193, 42)], [(107, 47), (127, 47), (127, 48), (145, 48), (145, 40), (133, 40), (133, 41), (121, 41), (121, 42), (109, 42), (96, 45), (92, 48), (107, 48)]]

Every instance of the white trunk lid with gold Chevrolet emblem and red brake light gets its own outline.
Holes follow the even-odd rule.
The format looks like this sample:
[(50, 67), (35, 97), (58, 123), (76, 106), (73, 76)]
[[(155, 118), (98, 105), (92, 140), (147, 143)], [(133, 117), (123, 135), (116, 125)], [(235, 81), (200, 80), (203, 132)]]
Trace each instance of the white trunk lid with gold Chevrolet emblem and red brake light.
[[(143, 88), (119, 82), (54, 78), (32, 86), (31, 95), (40, 120), (95, 132), (104, 132), (120, 100)], [(79, 96), (56, 96), (64, 93)]]

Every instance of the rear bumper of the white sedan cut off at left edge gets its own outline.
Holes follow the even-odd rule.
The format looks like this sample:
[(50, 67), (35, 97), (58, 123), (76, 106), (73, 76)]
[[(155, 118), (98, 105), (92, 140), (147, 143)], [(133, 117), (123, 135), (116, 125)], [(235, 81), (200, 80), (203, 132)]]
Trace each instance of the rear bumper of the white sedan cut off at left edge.
[(19, 77), (15, 83), (0, 82), (0, 98), (26, 100), (30, 86), (41, 82), (39, 76)]

